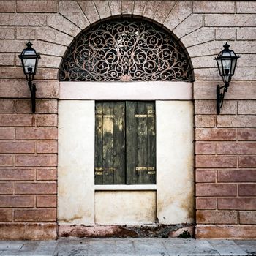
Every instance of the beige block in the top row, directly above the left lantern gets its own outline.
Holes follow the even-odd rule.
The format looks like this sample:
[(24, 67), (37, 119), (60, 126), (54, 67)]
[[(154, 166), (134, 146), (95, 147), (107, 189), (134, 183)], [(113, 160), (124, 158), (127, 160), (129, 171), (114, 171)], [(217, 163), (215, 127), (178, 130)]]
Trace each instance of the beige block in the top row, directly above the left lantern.
[(57, 1), (18, 0), (17, 12), (57, 12)]

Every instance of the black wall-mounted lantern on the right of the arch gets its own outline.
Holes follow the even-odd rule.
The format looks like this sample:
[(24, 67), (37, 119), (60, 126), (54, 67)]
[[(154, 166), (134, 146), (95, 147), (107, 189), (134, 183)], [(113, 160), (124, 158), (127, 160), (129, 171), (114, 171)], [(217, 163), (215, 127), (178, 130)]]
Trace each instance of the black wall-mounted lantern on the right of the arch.
[[(231, 81), (232, 76), (234, 75), (236, 69), (236, 61), (240, 56), (236, 55), (233, 50), (230, 50), (230, 45), (223, 45), (224, 50), (222, 50), (217, 56), (216, 61), (218, 64), (219, 75), (222, 77), (224, 86), (217, 86), (217, 114), (220, 113), (220, 108), (222, 108), (223, 100), (225, 97), (225, 92), (227, 92), (229, 83)], [(222, 92), (220, 90), (223, 89)]]

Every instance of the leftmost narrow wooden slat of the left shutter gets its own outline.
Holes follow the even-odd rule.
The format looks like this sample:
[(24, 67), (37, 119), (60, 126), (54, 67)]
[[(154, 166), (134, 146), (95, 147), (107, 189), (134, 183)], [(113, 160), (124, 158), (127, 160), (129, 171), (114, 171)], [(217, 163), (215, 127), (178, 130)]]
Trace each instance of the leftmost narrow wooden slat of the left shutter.
[[(95, 102), (95, 113), (102, 113), (102, 102)], [(103, 166), (103, 118), (102, 115), (95, 115), (95, 169)], [(95, 170), (95, 184), (103, 184), (102, 171)]]

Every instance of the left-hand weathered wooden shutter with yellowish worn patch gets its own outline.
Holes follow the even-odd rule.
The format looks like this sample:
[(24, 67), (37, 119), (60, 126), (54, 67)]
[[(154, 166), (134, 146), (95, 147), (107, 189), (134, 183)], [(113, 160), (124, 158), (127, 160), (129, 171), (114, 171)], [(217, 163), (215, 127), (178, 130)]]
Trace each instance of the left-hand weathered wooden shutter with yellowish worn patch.
[(96, 102), (95, 184), (125, 184), (125, 102)]

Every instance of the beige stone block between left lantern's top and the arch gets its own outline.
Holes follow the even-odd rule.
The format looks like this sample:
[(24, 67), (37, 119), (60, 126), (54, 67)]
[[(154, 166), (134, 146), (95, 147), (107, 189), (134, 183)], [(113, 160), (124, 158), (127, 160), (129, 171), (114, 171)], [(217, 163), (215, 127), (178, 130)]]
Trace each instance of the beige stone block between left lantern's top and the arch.
[[(33, 47), (37, 49), (38, 53), (53, 55), (53, 56), (64, 56), (64, 53), (67, 50), (67, 46), (56, 45), (52, 42), (43, 42), (43, 41), (34, 41)], [(40, 63), (39, 59), (38, 63)]]

